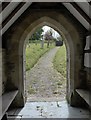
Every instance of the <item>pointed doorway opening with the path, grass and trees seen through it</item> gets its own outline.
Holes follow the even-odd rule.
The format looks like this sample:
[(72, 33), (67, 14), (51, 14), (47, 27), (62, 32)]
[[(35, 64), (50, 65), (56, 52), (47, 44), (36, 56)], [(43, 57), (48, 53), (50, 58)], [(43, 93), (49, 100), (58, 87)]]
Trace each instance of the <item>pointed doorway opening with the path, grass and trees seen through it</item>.
[(52, 27), (38, 27), (25, 44), (27, 101), (47, 102), (66, 99), (66, 46)]

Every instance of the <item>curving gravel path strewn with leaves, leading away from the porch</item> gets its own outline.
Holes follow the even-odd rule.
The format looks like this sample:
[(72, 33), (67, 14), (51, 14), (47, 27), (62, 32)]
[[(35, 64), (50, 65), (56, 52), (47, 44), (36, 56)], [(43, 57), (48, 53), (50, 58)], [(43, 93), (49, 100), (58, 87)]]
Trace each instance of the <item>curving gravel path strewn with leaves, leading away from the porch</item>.
[(28, 101), (59, 101), (65, 99), (66, 82), (53, 68), (59, 47), (45, 53), (26, 75)]

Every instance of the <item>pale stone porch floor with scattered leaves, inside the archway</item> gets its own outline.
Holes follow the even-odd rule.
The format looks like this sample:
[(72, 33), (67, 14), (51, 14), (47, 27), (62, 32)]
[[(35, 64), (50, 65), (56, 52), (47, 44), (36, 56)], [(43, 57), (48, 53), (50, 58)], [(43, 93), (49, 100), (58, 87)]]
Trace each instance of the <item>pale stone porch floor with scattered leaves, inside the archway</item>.
[[(89, 118), (87, 109), (71, 107), (66, 101), (26, 102), (24, 108), (8, 111), (8, 120), (26, 120), (30, 118), (71, 118), (85, 120)], [(74, 119), (72, 119), (74, 118)], [(87, 119), (86, 119), (87, 120)]]

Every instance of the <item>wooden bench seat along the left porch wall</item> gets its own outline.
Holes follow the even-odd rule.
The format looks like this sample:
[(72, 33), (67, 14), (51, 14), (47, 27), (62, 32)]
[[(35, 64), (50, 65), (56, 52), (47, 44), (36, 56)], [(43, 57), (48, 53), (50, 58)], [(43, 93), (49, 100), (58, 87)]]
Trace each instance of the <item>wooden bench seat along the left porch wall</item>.
[(14, 91), (4, 93), (2, 96), (0, 96), (0, 102), (2, 102), (1, 118), (4, 116), (4, 114), (8, 110), (9, 106), (11, 105), (12, 101), (16, 97), (17, 93), (18, 93), (18, 90), (14, 90)]

